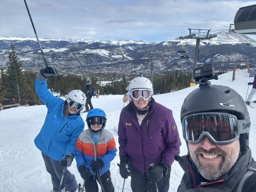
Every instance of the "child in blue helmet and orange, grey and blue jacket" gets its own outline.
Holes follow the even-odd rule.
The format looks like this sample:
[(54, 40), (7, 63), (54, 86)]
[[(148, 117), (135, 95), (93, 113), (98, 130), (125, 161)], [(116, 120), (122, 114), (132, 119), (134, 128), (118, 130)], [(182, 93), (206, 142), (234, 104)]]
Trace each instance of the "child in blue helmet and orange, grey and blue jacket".
[(76, 166), (88, 192), (99, 191), (97, 181), (105, 192), (115, 192), (109, 168), (117, 150), (113, 134), (104, 129), (106, 121), (103, 110), (90, 110), (86, 118), (88, 129), (79, 135), (76, 142)]

